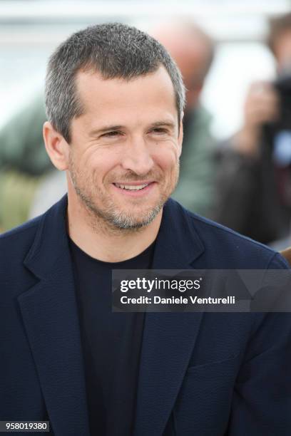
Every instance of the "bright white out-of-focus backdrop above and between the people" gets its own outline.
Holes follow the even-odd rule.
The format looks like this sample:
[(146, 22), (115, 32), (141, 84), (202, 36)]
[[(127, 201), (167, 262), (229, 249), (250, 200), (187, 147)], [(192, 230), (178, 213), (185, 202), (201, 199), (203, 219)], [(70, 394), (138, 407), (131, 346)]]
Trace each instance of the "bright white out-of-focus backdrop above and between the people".
[(267, 19), (290, 10), (290, 0), (0, 0), (0, 127), (41, 88), (48, 56), (74, 31), (106, 21), (148, 30), (178, 14), (192, 17), (218, 41), (202, 100), (214, 115), (213, 133), (223, 138), (241, 123), (249, 83), (274, 77), (263, 43)]

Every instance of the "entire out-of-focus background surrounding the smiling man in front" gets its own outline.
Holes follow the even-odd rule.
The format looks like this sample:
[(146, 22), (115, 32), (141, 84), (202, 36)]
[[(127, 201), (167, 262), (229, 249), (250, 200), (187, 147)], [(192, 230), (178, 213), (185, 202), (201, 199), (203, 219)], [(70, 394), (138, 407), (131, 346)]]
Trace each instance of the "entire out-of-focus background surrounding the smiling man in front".
[[(290, 0), (0, 0), (0, 229), (7, 230), (43, 212), (65, 190), (63, 178), (56, 177), (43, 152), (39, 154), (35, 148), (35, 143), (41, 142), (41, 101), (48, 56), (58, 43), (80, 28), (121, 21), (160, 39), (173, 58), (177, 56), (175, 60), (185, 77), (188, 72), (183, 72), (184, 63), (190, 55), (186, 48), (183, 54), (175, 47), (171, 34), (182, 34), (183, 28), (188, 28), (188, 37), (181, 37), (181, 46), (187, 38), (190, 46), (192, 36), (196, 38), (193, 46), (205, 37), (212, 44), (212, 62), (199, 86), (196, 79), (194, 85), (193, 67), (193, 90), (199, 91), (196, 89), (195, 104), (191, 103), (188, 111), (196, 114), (197, 122), (198, 103), (203, 107), (208, 123), (200, 125), (200, 129), (202, 135), (207, 130), (208, 137), (207, 141), (196, 139), (203, 148), (200, 155), (194, 146), (187, 145), (190, 152), (185, 156), (189, 162), (182, 161), (176, 198), (193, 212), (260, 242), (288, 244), (291, 136), (285, 119), (281, 123), (288, 103), (282, 109), (284, 98), (280, 95), (285, 93), (288, 100), (289, 88), (287, 85), (281, 90), (275, 83), (286, 70), (289, 61), (285, 59), (290, 56), (291, 60), (291, 43), (289, 48), (288, 41), (285, 44), (289, 54), (283, 56), (281, 65), (267, 41), (270, 20), (290, 12)], [(175, 24), (169, 27), (173, 17)], [(289, 33), (291, 41), (291, 19)], [(179, 56), (184, 56), (181, 63)], [(186, 83), (189, 95), (191, 83)], [(260, 102), (254, 101), (260, 93), (265, 96)], [(288, 101), (291, 112), (291, 98)], [(260, 113), (260, 107), (263, 112), (268, 104), (269, 112)], [(189, 115), (185, 120), (188, 142), (190, 119)], [(207, 144), (202, 146), (203, 140)], [(271, 150), (267, 157), (261, 148)], [(44, 198), (46, 202), (41, 202)], [(262, 229), (265, 222), (266, 229)]]

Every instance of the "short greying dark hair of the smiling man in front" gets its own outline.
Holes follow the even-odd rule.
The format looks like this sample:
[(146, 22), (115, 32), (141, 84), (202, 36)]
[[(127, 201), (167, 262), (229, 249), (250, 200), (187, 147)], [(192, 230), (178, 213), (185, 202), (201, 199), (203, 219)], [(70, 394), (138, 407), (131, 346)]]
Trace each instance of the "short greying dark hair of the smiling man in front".
[(120, 23), (98, 24), (73, 33), (48, 61), (46, 115), (53, 128), (71, 142), (70, 125), (84, 109), (76, 90), (78, 71), (98, 71), (103, 79), (153, 73), (164, 66), (173, 83), (178, 121), (185, 106), (180, 71), (165, 48), (154, 38)]

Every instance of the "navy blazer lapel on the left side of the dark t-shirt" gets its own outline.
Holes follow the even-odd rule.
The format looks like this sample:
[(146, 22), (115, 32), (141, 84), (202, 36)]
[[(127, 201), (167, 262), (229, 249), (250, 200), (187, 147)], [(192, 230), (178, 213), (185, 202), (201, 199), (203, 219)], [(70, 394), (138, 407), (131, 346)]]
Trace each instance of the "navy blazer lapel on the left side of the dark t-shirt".
[(54, 435), (88, 436), (66, 204), (64, 197), (44, 215), (24, 262), (39, 283), (18, 300)]

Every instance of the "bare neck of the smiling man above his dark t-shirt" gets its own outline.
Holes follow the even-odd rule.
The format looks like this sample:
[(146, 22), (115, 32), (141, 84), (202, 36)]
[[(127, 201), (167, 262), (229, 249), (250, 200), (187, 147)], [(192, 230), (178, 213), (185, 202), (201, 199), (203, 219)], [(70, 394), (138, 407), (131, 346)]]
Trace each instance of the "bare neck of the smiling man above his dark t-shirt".
[(138, 256), (155, 241), (163, 210), (140, 229), (118, 229), (103, 222), (82, 204), (68, 196), (68, 234), (83, 251), (94, 259), (120, 262)]

